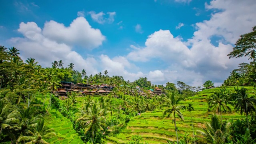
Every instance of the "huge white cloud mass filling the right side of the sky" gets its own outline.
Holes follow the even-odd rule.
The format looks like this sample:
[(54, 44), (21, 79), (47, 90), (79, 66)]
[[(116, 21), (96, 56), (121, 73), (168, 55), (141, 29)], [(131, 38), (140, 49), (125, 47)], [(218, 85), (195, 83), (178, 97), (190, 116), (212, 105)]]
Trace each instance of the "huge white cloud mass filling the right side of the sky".
[[(248, 62), (247, 58), (228, 59), (226, 55), (239, 35), (250, 32), (255, 25), (255, 6), (254, 0), (213, 0), (206, 4), (207, 10), (213, 10), (210, 20), (196, 23), (192, 38), (184, 41), (169, 30), (159, 30), (148, 36), (144, 48), (133, 48), (127, 58), (136, 62), (159, 59), (168, 63), (168, 68), (148, 73), (153, 82), (180, 80), (198, 86), (212, 80), (220, 85), (239, 63)], [(214, 36), (222, 41), (213, 45)]]

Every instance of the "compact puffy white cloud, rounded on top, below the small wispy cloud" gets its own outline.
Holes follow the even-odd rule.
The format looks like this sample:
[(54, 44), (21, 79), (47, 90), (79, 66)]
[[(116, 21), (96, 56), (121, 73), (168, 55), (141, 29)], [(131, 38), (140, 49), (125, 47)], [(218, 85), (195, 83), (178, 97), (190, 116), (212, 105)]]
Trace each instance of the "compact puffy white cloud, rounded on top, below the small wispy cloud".
[(58, 43), (79, 45), (86, 49), (93, 49), (106, 39), (99, 29), (94, 29), (84, 17), (78, 17), (66, 27), (51, 20), (44, 24), (42, 34)]

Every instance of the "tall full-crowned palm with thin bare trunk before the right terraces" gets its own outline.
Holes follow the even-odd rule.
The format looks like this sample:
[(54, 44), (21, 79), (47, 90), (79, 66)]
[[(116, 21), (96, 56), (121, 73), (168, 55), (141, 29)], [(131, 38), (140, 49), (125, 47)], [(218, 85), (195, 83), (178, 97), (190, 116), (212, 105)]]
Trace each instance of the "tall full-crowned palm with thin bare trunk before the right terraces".
[(162, 105), (162, 107), (167, 107), (167, 109), (164, 110), (163, 116), (168, 114), (167, 118), (170, 116), (172, 117), (172, 120), (174, 121), (175, 130), (176, 130), (177, 144), (179, 144), (175, 114), (177, 114), (178, 117), (184, 121), (184, 117), (183, 117), (182, 113), (180, 112), (180, 110), (185, 109), (186, 107), (183, 105), (178, 105), (178, 102), (180, 102), (181, 100), (184, 100), (184, 99), (181, 97), (178, 97), (174, 92), (167, 93), (166, 96), (167, 96), (167, 97), (165, 97), (166, 104)]

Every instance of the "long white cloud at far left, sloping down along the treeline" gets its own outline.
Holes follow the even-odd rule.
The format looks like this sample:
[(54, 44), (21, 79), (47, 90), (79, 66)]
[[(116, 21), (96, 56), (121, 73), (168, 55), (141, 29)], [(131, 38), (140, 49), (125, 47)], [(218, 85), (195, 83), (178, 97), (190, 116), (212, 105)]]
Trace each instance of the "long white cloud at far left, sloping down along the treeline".
[(36, 58), (42, 66), (51, 66), (54, 60), (63, 60), (66, 66), (72, 62), (78, 70), (86, 69), (89, 74), (97, 73), (94, 58), (84, 59), (67, 44), (47, 38), (35, 22), (20, 23), (18, 32), (22, 33), (24, 38), (11, 38), (9, 42), (19, 48), (22, 59)]

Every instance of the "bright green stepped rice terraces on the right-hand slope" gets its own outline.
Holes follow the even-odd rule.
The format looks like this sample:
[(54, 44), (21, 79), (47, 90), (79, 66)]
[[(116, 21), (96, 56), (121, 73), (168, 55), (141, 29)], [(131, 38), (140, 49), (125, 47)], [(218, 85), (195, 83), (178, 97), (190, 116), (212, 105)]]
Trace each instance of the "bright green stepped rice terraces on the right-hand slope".
[[(246, 86), (250, 95), (254, 95), (254, 86)], [(228, 87), (230, 91), (234, 91), (234, 87)], [(210, 121), (210, 114), (212, 112), (207, 112), (208, 105), (206, 103), (208, 96), (213, 94), (215, 91), (219, 91), (219, 88), (208, 89), (198, 92), (197, 95), (193, 97), (186, 98), (185, 101), (180, 102), (180, 104), (187, 106), (191, 103), (194, 107), (192, 111), (192, 122), (194, 130), (202, 130), (204, 122)], [(244, 118), (240, 114), (234, 112), (234, 107), (232, 108), (231, 114), (223, 114), (222, 119), (239, 119)], [(145, 112), (141, 116), (136, 116), (128, 122), (128, 126), (118, 134), (116, 137), (107, 136), (106, 140), (108, 144), (123, 144), (129, 142), (131, 137), (136, 134), (140, 134), (144, 140), (150, 144), (166, 144), (168, 140), (176, 140), (176, 133), (174, 124), (170, 118), (164, 118), (162, 116), (163, 110), (156, 110), (154, 112)], [(190, 112), (184, 110), (182, 112), (185, 121), (177, 120), (178, 136), (181, 137), (185, 132), (192, 136), (192, 124)]]

